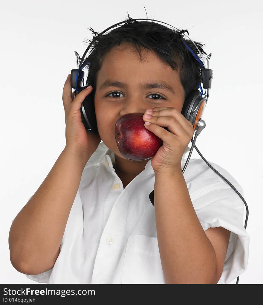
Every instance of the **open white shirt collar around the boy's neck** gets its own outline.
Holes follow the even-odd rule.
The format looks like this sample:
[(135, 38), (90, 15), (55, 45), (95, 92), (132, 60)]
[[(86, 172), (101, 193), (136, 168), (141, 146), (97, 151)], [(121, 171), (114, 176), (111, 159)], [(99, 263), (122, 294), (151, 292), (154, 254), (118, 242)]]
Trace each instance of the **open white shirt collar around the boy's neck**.
[[(187, 146), (183, 153), (182, 160), (186, 158), (186, 154), (189, 151), (190, 147)], [(104, 164), (105, 167), (107, 167), (109, 170), (115, 171), (115, 169), (113, 168), (113, 164), (115, 163), (114, 152), (110, 150), (102, 141), (98, 145), (98, 148), (95, 150), (95, 152), (91, 155), (85, 167), (88, 167), (90, 165), (99, 165), (100, 163)], [(146, 174), (154, 173), (154, 170), (151, 166), (151, 159), (148, 160), (148, 162), (146, 163), (144, 170), (146, 171)]]

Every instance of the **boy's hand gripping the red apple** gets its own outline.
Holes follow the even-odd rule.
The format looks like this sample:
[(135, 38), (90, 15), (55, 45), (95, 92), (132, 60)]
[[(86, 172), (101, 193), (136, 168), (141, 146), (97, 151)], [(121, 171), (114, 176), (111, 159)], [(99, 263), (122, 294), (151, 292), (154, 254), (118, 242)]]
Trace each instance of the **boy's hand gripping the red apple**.
[[(154, 107), (152, 111), (150, 119), (145, 118), (145, 111), (143, 120), (151, 124), (144, 124), (144, 127), (161, 138), (163, 145), (152, 157), (151, 166), (155, 173), (175, 173), (179, 169), (182, 171), (182, 156), (193, 138), (194, 127), (174, 107)], [(169, 131), (162, 127), (168, 127)]]

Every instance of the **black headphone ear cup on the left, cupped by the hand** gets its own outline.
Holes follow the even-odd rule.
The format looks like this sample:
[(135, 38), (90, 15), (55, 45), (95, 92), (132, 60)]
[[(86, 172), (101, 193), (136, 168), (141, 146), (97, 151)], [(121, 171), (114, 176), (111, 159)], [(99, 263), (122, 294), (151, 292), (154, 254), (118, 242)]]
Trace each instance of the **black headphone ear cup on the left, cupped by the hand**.
[[(87, 86), (81, 88), (80, 91), (82, 91), (85, 88), (87, 88)], [(97, 126), (96, 113), (95, 113), (94, 98), (93, 98), (93, 94), (91, 93), (87, 95), (84, 101), (82, 102), (80, 107), (80, 115), (81, 115), (82, 123), (84, 124), (86, 130), (90, 130), (91, 132), (98, 134), (99, 132)]]

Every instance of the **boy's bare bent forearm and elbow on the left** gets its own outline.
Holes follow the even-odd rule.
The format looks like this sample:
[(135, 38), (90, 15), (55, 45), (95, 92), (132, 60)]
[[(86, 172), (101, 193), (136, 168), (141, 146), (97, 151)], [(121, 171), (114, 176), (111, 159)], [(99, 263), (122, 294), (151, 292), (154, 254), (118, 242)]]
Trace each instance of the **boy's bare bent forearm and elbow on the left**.
[(34, 196), (12, 222), (10, 260), (19, 272), (40, 274), (54, 266), (89, 158), (65, 147)]

